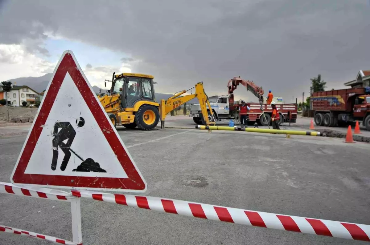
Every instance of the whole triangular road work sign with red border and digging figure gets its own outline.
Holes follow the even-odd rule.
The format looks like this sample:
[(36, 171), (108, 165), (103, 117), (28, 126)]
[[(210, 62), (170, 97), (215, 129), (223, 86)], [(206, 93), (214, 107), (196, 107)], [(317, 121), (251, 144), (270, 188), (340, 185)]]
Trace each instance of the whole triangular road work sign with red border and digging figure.
[(147, 190), (70, 50), (55, 67), (10, 181), (83, 190)]

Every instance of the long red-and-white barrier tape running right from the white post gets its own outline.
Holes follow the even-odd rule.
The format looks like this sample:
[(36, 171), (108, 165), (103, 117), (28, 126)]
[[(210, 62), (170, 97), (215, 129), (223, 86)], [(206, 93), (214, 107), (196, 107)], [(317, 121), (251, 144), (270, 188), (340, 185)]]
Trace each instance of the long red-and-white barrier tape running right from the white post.
[(159, 197), (77, 190), (72, 190), (72, 195), (196, 218), (370, 242), (370, 225), (272, 214)]

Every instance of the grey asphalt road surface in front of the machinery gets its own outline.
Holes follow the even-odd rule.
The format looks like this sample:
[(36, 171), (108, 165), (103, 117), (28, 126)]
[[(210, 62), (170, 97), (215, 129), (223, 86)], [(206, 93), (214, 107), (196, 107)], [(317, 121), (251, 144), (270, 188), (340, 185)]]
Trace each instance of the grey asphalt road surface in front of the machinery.
[[(0, 181), (10, 181), (27, 130), (0, 129)], [(370, 224), (368, 143), (196, 129), (118, 132), (148, 183), (145, 195)], [(195, 179), (206, 182), (188, 184)], [(72, 239), (68, 203), (0, 194), (0, 205), (0, 224)], [(368, 244), (86, 199), (81, 217), (84, 244)], [(0, 244), (48, 243), (1, 232)]]

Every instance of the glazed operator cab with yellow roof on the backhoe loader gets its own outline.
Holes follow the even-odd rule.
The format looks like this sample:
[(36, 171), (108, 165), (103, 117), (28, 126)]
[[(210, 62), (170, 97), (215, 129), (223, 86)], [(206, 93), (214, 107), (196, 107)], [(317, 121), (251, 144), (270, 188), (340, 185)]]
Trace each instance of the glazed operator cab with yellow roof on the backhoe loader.
[(137, 101), (156, 102), (153, 78), (137, 73), (113, 74), (111, 94), (120, 95), (122, 108), (131, 108)]

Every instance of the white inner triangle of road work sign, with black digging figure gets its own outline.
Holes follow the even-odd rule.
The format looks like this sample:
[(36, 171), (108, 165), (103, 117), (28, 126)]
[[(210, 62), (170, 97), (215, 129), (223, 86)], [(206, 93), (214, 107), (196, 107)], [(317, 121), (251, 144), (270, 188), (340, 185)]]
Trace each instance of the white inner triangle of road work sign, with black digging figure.
[(24, 173), (127, 178), (68, 72)]

